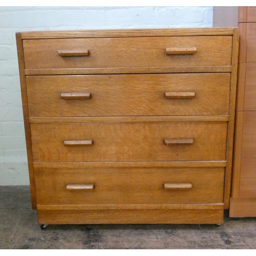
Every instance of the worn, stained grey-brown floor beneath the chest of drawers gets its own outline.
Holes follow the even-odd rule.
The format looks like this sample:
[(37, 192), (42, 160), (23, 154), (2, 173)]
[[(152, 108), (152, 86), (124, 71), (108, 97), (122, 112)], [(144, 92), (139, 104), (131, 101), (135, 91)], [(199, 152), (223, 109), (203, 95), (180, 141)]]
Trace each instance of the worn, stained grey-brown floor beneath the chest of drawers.
[(41, 230), (29, 186), (0, 186), (0, 249), (256, 249), (256, 218), (215, 225), (49, 225)]

